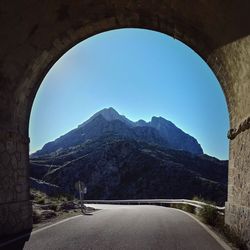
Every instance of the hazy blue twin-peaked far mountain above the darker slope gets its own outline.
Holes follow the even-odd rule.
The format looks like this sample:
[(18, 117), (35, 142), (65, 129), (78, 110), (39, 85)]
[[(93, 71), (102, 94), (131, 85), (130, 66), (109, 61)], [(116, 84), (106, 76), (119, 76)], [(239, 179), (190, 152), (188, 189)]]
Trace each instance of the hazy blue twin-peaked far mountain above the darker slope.
[(108, 134), (153, 143), (166, 148), (184, 150), (197, 155), (203, 154), (200, 144), (194, 137), (162, 117), (152, 117), (150, 122), (143, 120), (132, 122), (113, 108), (108, 108), (97, 112), (76, 129), (55, 141), (45, 144), (31, 157), (56, 153)]

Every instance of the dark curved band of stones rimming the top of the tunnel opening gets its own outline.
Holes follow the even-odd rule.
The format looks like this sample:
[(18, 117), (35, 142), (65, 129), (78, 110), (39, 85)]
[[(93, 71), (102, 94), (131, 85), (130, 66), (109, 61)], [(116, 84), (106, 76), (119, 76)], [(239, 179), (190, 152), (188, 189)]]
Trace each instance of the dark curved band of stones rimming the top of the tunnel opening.
[[(137, 15), (136, 15), (137, 16)], [(140, 28), (140, 29), (147, 29), (152, 31), (157, 31), (166, 35), (177, 39), (184, 44), (186, 44), (189, 48), (191, 48), (194, 52), (196, 52), (211, 68), (214, 72), (215, 76), (217, 77), (220, 86), (223, 90), (223, 93), (226, 98), (227, 109), (229, 111), (230, 117), (230, 95), (227, 92), (227, 88), (224, 86), (225, 83), (225, 72), (221, 70), (222, 64), (220, 63), (217, 56), (213, 57), (213, 55), (209, 54), (212, 50), (211, 46), (207, 44), (207, 38), (202, 37), (202, 34), (198, 36), (198, 40), (192, 39), (192, 32), (195, 34), (198, 31), (192, 29), (191, 34), (187, 34), (186, 30), (187, 27), (183, 25), (177, 26), (173, 24), (172, 26), (164, 26), (167, 22), (166, 19), (161, 21), (158, 20), (157, 25), (154, 23), (144, 24), (143, 18), (126, 18), (121, 23), (114, 23), (116, 18), (112, 17), (109, 19), (104, 19), (99, 23), (90, 24), (84, 27), (77, 27), (76, 29), (71, 29), (66, 31), (63, 35), (56, 38), (52, 41), (52, 46), (49, 50), (41, 51), (41, 54), (38, 56), (36, 61), (31, 68), (27, 69), (27, 73), (25, 72), (25, 80), (20, 85), (20, 89), (16, 91), (16, 99), (20, 97), (20, 91), (28, 93), (28, 99), (25, 100), (21, 96), (21, 100), (18, 100), (18, 109), (17, 113), (20, 114), (22, 110), (27, 110), (27, 114), (25, 115), (25, 122), (23, 125), (25, 126), (25, 130), (28, 130), (27, 121), (29, 121), (29, 115), (31, 113), (32, 104), (35, 98), (35, 95), (39, 89), (40, 84), (42, 83), (44, 77), (49, 72), (49, 70), (53, 67), (53, 65), (71, 48), (73, 48), (78, 43), (103, 32), (122, 29), (122, 28)], [(152, 17), (153, 19), (153, 17)], [(146, 21), (145, 21), (146, 22)], [(143, 24), (142, 24), (143, 23)], [(177, 28), (178, 27), (178, 28)], [(90, 32), (91, 31), (91, 32)], [(34, 65), (35, 70), (34, 70)], [(27, 89), (27, 90), (26, 90)], [(28, 102), (27, 102), (28, 100)], [(19, 110), (20, 108), (20, 110)], [(231, 121), (231, 119), (229, 119)], [(20, 124), (20, 123), (19, 123)]]

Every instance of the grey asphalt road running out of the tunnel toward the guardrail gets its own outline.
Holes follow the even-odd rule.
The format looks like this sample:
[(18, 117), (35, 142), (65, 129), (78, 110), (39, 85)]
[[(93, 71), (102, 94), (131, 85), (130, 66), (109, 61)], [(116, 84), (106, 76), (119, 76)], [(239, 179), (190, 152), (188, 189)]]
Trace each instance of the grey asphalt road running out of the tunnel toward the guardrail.
[(176, 209), (148, 205), (96, 207), (103, 210), (32, 233), (24, 245), (15, 248), (15, 242), (6, 249), (224, 249), (197, 221)]

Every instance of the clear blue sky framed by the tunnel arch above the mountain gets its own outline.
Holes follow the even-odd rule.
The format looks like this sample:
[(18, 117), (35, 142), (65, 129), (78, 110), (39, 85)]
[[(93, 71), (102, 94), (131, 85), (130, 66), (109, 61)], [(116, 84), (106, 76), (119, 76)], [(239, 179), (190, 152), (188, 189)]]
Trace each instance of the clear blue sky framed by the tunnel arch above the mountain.
[(30, 118), (30, 152), (113, 107), (136, 121), (162, 116), (228, 159), (229, 121), (222, 89), (192, 49), (167, 35), (120, 29), (64, 54), (46, 75)]

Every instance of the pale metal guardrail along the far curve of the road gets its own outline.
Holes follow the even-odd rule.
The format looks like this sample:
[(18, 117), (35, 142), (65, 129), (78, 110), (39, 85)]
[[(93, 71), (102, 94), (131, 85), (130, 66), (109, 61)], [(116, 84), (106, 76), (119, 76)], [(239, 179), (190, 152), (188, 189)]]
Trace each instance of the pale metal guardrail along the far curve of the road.
[(160, 205), (168, 206), (171, 204), (186, 204), (195, 208), (202, 208), (203, 206), (211, 206), (216, 208), (220, 213), (224, 213), (225, 207), (214, 206), (209, 203), (187, 199), (140, 199), (140, 200), (84, 200), (87, 204), (123, 204), (123, 205)]

